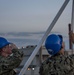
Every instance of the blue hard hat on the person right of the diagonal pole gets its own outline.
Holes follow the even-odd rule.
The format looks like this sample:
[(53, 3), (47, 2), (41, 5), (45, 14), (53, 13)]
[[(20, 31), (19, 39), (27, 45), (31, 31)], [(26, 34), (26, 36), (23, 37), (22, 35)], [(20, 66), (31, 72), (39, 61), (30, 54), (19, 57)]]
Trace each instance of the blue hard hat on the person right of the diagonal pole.
[(50, 55), (55, 55), (62, 47), (62, 36), (51, 34), (45, 41), (45, 47)]

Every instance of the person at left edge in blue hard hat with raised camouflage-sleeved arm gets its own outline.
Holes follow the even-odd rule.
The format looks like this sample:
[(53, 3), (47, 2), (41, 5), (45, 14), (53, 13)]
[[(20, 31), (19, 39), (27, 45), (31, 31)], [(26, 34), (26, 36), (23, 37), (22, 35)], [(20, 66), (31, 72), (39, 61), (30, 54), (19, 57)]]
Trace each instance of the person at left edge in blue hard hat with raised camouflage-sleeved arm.
[(16, 75), (14, 71), (23, 59), (23, 52), (19, 52), (15, 44), (0, 37), (0, 75)]

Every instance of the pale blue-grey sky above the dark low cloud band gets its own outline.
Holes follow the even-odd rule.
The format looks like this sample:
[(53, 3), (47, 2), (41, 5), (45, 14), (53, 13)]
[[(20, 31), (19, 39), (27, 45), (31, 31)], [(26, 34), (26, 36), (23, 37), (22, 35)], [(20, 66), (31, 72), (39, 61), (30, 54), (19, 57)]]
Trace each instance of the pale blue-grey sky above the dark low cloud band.
[[(46, 31), (65, 0), (0, 0), (0, 32)], [(72, 0), (52, 31), (67, 32)]]

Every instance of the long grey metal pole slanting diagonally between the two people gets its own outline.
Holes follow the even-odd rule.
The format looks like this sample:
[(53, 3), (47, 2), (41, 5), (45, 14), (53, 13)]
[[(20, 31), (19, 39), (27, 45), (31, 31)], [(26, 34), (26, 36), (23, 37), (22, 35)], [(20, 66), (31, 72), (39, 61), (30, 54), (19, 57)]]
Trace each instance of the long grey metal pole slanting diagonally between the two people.
[(58, 11), (57, 15), (55, 16), (55, 18), (53, 19), (52, 23), (50, 24), (50, 26), (48, 27), (47, 31), (45, 32), (44, 36), (42, 37), (42, 39), (40, 40), (40, 42), (38, 43), (37, 47), (35, 48), (35, 50), (33, 51), (33, 53), (31, 54), (31, 56), (29, 57), (29, 59), (27, 60), (27, 62), (25, 63), (24, 67), (22, 68), (22, 70), (20, 71), (19, 75), (23, 75), (28, 66), (30, 65), (30, 63), (32, 62), (32, 60), (34, 59), (35, 55), (37, 54), (38, 50), (40, 49), (41, 45), (43, 44), (44, 40), (47, 38), (48, 34), (50, 33), (50, 31), (52, 30), (52, 28), (54, 27), (55, 23), (57, 22), (57, 20), (59, 19), (60, 15), (62, 14), (63, 10), (65, 9), (65, 7), (67, 6), (68, 2), (70, 0), (65, 0), (65, 2), (63, 3), (62, 7), (60, 8), (60, 10)]

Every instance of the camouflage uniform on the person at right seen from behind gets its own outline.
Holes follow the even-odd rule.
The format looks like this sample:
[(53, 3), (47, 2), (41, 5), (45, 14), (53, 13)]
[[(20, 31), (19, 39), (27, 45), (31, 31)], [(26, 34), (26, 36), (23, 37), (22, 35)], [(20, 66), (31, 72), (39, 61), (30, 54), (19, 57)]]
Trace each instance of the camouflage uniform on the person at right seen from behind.
[(73, 61), (71, 56), (56, 54), (42, 63), (39, 73), (40, 75), (74, 75)]

